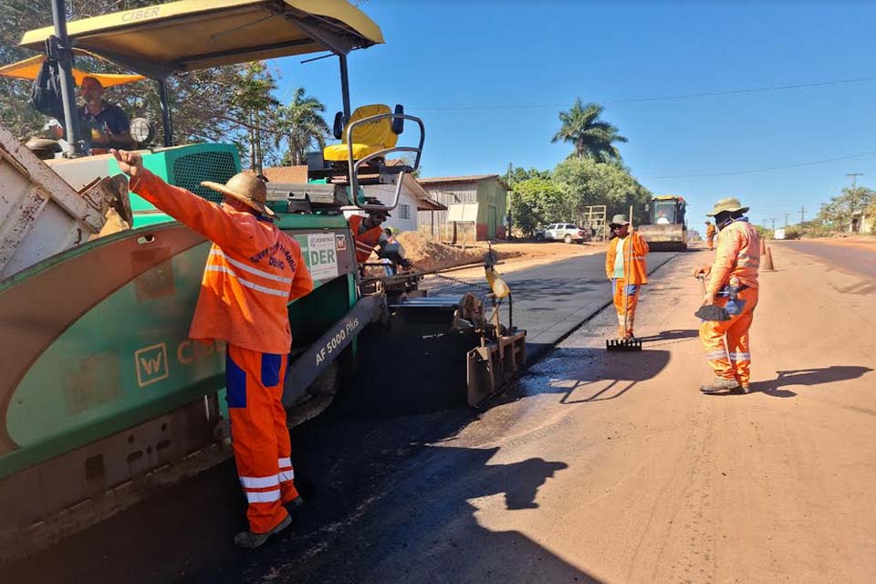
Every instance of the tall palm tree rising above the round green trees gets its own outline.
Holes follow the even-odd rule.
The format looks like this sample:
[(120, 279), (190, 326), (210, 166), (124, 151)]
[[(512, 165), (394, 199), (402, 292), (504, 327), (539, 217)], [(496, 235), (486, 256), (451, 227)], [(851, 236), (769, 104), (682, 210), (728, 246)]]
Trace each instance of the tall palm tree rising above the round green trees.
[(572, 142), (575, 151), (570, 158), (577, 156), (596, 162), (620, 162), (620, 151), (614, 142), (625, 142), (627, 139), (609, 122), (600, 120), (603, 110), (598, 103), (584, 105), (580, 98), (576, 99), (571, 110), (559, 112), (559, 120), (563, 125), (551, 141)]

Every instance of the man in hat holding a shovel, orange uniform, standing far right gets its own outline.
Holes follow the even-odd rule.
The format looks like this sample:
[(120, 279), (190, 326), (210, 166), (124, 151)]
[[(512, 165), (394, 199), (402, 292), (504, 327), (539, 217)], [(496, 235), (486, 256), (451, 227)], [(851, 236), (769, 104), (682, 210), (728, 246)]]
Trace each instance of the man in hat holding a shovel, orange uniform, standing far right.
[(760, 237), (748, 223), (747, 211), (738, 199), (715, 203), (708, 214), (718, 227), (714, 264), (694, 270), (694, 276), (709, 277), (703, 304), (724, 307), (730, 315), (730, 320), (707, 320), (700, 325), (700, 340), (714, 370), (714, 381), (700, 388), (704, 393), (750, 390), (748, 328), (757, 306)]

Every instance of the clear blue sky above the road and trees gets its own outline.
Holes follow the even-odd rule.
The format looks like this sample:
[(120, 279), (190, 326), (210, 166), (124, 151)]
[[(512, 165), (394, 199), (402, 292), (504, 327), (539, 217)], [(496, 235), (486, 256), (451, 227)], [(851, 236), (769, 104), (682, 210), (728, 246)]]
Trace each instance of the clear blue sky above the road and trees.
[[(654, 193), (683, 195), (699, 226), (737, 196), (758, 224), (808, 218), (863, 172), (876, 187), (876, 4), (370, 0), (386, 44), (349, 57), (357, 104), (403, 103), (426, 123), (424, 176), (553, 168), (558, 110), (606, 104), (624, 161)], [(281, 99), (303, 86), (340, 109), (336, 59), (274, 61)], [(662, 98), (849, 79), (860, 82)], [(771, 172), (736, 173), (866, 156)], [(692, 175), (714, 175), (699, 176)], [(668, 178), (664, 178), (668, 177)]]

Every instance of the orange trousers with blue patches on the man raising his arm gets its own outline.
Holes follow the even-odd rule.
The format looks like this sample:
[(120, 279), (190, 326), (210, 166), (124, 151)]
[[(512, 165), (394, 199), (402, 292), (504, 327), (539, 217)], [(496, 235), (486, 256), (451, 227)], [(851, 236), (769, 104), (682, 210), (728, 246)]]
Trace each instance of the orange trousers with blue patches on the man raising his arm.
[(225, 359), (231, 440), (253, 533), (276, 527), (288, 515), (283, 503), (298, 496), (281, 400), (287, 359), (235, 345)]

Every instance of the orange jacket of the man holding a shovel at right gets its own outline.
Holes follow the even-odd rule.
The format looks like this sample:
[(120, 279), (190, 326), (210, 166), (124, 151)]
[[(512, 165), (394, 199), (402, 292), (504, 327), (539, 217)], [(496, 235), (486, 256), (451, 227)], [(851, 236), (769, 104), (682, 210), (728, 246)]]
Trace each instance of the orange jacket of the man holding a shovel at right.
[(760, 236), (752, 224), (736, 220), (718, 232), (718, 246), (707, 290), (709, 294), (717, 294), (734, 276), (747, 287), (756, 288), (759, 268)]

